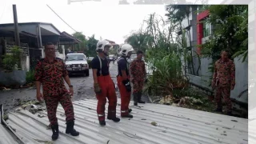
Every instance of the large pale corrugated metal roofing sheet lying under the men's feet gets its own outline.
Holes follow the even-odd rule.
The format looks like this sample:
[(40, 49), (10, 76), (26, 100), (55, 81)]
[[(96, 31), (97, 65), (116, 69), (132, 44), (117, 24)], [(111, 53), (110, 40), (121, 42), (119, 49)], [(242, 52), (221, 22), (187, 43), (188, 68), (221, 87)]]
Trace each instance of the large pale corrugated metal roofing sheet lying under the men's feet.
[[(58, 106), (60, 137), (54, 143), (103, 143), (103, 144), (185, 144), (185, 143), (248, 143), (248, 120), (221, 114), (212, 114), (199, 110), (190, 110), (175, 106), (141, 104), (133, 106), (134, 118), (122, 118), (115, 123), (106, 119), (106, 126), (98, 125), (96, 114), (97, 100), (94, 98), (74, 102), (75, 129), (78, 137), (65, 134), (64, 110)], [(107, 110), (107, 106), (106, 106)], [(46, 112), (40, 112), (46, 116)], [(120, 99), (117, 107), (120, 115)], [(51, 130), (47, 117), (39, 118), (27, 110), (10, 113), (7, 121), (16, 130), (18, 136), (27, 143), (50, 141)], [(157, 126), (151, 125), (157, 122)]]

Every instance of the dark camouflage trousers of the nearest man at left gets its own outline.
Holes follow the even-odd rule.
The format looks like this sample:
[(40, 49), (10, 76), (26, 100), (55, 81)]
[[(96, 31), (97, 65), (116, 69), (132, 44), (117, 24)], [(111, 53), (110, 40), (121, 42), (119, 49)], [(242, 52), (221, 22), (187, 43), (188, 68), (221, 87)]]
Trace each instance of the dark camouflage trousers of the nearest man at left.
[(51, 125), (58, 124), (58, 119), (56, 118), (56, 110), (58, 107), (58, 102), (61, 103), (65, 114), (66, 122), (74, 120), (74, 107), (70, 99), (70, 94), (59, 94), (59, 95), (45, 95), (46, 109), (48, 118)]

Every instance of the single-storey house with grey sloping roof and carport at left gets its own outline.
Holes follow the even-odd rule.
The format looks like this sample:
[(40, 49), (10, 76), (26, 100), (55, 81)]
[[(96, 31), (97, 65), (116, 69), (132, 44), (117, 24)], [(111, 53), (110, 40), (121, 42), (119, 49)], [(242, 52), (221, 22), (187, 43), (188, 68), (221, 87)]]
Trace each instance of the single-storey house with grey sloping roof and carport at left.
[[(18, 30), (23, 50), (27, 51), (26, 58), (22, 58), (25, 63), (22, 65), (22, 70), (30, 70), (30, 66), (33, 69), (37, 60), (45, 57), (44, 45), (47, 42), (57, 46), (56, 55), (60, 58), (65, 58), (64, 46), (73, 48), (75, 44), (81, 42), (46, 22), (18, 23)], [(14, 23), (0, 24), (0, 40), (2, 42), (0, 57), (2, 57), (6, 53), (6, 46), (14, 45)]]

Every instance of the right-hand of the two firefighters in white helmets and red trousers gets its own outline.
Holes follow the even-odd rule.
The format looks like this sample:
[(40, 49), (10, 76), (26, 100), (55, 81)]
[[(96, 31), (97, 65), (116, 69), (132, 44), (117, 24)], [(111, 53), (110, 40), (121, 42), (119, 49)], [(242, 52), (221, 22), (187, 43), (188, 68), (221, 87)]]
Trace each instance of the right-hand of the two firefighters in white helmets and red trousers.
[(134, 51), (133, 46), (129, 44), (124, 44), (120, 48), (121, 58), (118, 59), (118, 88), (121, 95), (121, 117), (122, 118), (133, 118), (133, 115), (129, 114), (131, 109), (129, 109), (130, 103), (130, 72), (129, 72), (129, 62), (127, 58), (130, 58), (130, 55)]

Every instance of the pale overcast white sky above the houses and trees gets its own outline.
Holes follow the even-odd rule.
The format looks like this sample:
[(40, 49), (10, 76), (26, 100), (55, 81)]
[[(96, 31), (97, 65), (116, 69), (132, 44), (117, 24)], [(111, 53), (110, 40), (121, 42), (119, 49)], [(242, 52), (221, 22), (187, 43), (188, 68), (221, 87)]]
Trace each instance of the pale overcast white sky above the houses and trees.
[[(149, 14), (155, 12), (163, 17), (166, 14), (164, 6), (123, 6), (118, 5), (118, 1), (72, 2), (68, 5), (67, 0), (0, 0), (0, 23), (14, 22), (12, 4), (16, 4), (18, 22), (50, 22), (58, 30), (70, 34), (74, 30), (82, 31), (86, 36), (95, 34), (98, 39), (102, 37), (122, 43), (124, 36), (131, 30), (138, 30)], [(62, 22), (46, 3), (74, 30)]]

